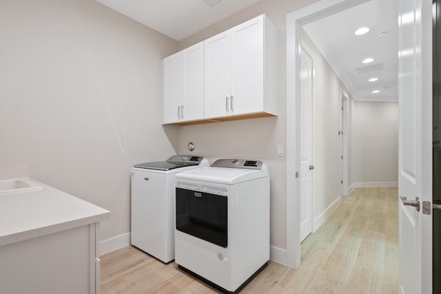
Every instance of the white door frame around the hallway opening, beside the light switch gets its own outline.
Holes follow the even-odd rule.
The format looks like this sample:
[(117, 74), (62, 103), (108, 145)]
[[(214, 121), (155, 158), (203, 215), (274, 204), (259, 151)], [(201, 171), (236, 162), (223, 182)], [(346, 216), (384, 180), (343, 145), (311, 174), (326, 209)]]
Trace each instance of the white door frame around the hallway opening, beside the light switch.
[(320, 0), (287, 14), (287, 266), (300, 266), (300, 220), (298, 212), (300, 185), (300, 99), (299, 50), (302, 25), (357, 6), (369, 0)]

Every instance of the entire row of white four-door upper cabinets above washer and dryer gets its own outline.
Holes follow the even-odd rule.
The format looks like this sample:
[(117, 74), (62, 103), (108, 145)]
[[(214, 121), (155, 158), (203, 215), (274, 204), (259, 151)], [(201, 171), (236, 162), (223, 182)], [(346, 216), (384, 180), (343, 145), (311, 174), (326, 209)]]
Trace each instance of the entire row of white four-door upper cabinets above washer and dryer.
[(276, 116), (277, 42), (262, 14), (164, 59), (164, 123)]

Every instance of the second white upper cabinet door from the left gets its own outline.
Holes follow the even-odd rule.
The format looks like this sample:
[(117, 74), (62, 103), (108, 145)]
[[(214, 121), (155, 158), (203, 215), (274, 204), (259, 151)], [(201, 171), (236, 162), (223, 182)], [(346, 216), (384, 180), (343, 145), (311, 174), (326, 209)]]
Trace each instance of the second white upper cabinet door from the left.
[(204, 118), (204, 44), (183, 50), (182, 120)]

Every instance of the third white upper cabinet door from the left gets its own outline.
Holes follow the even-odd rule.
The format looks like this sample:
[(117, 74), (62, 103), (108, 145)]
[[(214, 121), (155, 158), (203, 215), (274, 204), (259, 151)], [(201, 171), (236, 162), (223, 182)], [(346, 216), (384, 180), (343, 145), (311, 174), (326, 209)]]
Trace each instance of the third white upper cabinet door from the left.
[(229, 31), (204, 41), (205, 117), (229, 114), (230, 36)]

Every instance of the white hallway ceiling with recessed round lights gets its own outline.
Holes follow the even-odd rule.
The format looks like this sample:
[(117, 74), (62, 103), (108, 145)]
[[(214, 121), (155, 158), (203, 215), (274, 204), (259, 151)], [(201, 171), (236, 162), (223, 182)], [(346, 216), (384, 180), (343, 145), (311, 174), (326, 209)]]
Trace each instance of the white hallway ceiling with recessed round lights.
[[(356, 36), (361, 27), (370, 30)], [(354, 99), (398, 101), (398, 1), (371, 0), (303, 28)], [(373, 62), (363, 64), (368, 57)]]

